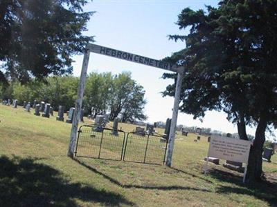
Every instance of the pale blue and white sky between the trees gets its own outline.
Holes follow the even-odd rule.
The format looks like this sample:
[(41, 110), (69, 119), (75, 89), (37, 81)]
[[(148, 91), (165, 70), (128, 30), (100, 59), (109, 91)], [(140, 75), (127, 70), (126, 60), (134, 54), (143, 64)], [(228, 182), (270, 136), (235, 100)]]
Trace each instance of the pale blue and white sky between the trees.
[[(184, 8), (205, 9), (205, 5), (217, 7), (219, 1), (166, 1), (166, 0), (94, 0), (88, 3), (85, 11), (95, 11), (87, 24), (84, 34), (94, 36), (95, 43), (125, 52), (153, 59), (163, 59), (186, 47), (186, 43), (168, 39), (169, 34), (186, 34), (188, 30), (179, 30), (178, 14)], [(80, 77), (82, 55), (74, 56), (73, 75)], [(172, 79), (161, 79), (163, 72), (159, 68), (123, 61), (112, 57), (91, 53), (89, 72), (132, 72), (132, 79), (145, 89), (145, 114), (149, 123), (166, 121), (172, 117), (173, 97), (162, 97), (161, 92), (172, 83)], [(179, 112), (177, 124), (198, 126), (237, 132), (235, 125), (229, 123), (224, 112), (209, 111), (203, 121), (193, 119), (192, 115)], [(253, 128), (247, 133), (254, 135)], [(277, 133), (276, 133), (277, 134)]]

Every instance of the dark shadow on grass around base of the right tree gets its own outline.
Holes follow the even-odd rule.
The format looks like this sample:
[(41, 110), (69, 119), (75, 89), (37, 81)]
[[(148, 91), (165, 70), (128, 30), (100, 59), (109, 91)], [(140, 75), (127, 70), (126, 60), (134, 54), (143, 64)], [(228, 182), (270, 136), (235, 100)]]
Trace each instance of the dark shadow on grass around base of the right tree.
[(257, 199), (267, 201), (269, 206), (277, 206), (277, 184), (270, 181), (260, 181), (254, 184), (242, 184), (242, 176), (233, 175), (233, 173), (223, 170), (213, 169), (210, 171), (211, 177), (235, 186), (218, 186), (217, 193), (228, 194), (236, 193), (241, 195), (250, 195)]

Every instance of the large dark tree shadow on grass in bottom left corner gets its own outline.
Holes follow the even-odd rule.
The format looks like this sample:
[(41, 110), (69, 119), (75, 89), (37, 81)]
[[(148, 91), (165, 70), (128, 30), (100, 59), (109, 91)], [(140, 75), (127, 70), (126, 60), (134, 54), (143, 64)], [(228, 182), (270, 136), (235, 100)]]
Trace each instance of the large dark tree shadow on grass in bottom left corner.
[(122, 195), (69, 183), (34, 158), (0, 157), (0, 206), (78, 206), (73, 199), (103, 205), (134, 205)]

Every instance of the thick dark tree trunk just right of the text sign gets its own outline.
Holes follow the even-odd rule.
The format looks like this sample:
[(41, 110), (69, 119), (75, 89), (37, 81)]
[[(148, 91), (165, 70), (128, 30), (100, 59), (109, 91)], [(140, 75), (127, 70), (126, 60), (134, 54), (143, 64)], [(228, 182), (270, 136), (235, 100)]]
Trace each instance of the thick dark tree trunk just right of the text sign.
[(260, 121), (256, 128), (255, 139), (249, 153), (247, 166), (247, 183), (260, 181), (262, 178), (262, 146), (265, 143), (265, 130), (267, 121), (264, 117), (260, 117)]

